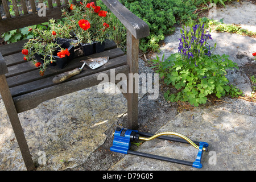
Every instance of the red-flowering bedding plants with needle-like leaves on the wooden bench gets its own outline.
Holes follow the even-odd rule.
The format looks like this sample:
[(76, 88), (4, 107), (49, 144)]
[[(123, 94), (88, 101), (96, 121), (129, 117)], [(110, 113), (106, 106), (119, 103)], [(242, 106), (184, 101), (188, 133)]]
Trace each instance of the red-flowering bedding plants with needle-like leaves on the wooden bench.
[[(73, 32), (78, 40), (71, 44), (102, 43), (106, 39), (111, 39), (111, 35), (113, 35), (111, 31), (115, 30), (115, 27), (112, 26), (113, 16), (88, 0), (81, 1), (79, 6), (70, 4), (69, 10), (64, 9), (62, 13), (63, 24), (55, 23), (56, 20), (51, 19), (48, 30), (41, 27), (28, 29), (33, 32), (34, 36), (28, 39), (23, 46), (23, 59), (32, 61), (35, 67), (39, 68), (41, 76), (44, 75), (48, 65), (56, 61), (53, 53), (57, 51), (56, 55), (60, 58), (70, 55), (67, 48), (63, 48), (57, 43), (58, 38), (70, 38), (70, 33)], [(36, 54), (42, 57), (42, 61), (35, 60)]]

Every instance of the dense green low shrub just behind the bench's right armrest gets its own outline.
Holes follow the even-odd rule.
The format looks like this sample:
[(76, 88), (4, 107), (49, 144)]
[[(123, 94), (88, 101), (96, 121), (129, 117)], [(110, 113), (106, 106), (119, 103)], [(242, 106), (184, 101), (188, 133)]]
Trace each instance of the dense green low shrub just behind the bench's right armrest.
[(197, 6), (204, 1), (195, 0), (120, 0), (132, 13), (144, 20), (150, 27), (150, 36), (141, 39), (139, 48), (158, 51), (159, 41), (174, 31), (175, 23), (186, 22), (189, 18), (196, 19), (193, 14)]

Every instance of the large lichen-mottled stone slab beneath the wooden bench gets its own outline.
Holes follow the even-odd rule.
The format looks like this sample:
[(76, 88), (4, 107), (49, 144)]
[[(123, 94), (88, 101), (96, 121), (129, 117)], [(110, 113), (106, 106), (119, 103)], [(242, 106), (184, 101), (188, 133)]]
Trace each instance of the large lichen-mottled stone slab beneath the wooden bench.
[[(0, 100), (0, 170), (26, 170)], [(37, 170), (63, 170), (85, 162), (104, 134), (127, 111), (121, 93), (98, 93), (97, 86), (43, 102), (19, 114)]]

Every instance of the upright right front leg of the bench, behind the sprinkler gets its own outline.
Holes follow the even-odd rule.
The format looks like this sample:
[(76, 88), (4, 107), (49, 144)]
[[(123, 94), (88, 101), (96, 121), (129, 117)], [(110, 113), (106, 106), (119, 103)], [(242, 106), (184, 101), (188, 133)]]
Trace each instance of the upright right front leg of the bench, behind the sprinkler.
[[(139, 72), (139, 39), (135, 39), (129, 30), (126, 34), (127, 38), (127, 64), (130, 67), (129, 77), (133, 77), (134, 73)], [(129, 82), (133, 84), (132, 92), (129, 92)], [(131, 85), (130, 85), (131, 86)], [(135, 81), (128, 79), (127, 82), (127, 119), (129, 129), (138, 128), (138, 92), (135, 92)]]

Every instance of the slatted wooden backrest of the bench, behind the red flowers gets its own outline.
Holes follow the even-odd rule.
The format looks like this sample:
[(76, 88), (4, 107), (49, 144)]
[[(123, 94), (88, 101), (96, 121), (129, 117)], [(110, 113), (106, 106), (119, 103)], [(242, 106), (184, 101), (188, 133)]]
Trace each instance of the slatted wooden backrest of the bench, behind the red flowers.
[[(43, 2), (46, 7), (42, 6)], [(27, 3), (26, 0), (11, 0), (11, 2), (2, 0), (0, 6), (3, 7), (4, 14), (0, 15), (0, 34), (48, 22), (49, 19), (60, 19), (61, 9), (67, 8), (68, 3), (68, 0), (47, 0), (47, 3), (43, 0), (27, 0)], [(76, 5), (77, 3), (80, 1), (72, 0), (72, 4)]]

